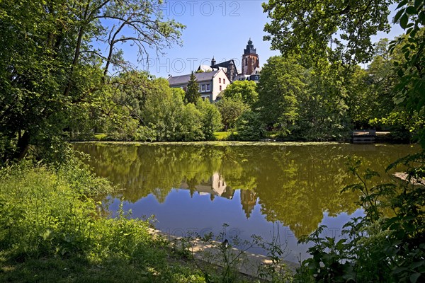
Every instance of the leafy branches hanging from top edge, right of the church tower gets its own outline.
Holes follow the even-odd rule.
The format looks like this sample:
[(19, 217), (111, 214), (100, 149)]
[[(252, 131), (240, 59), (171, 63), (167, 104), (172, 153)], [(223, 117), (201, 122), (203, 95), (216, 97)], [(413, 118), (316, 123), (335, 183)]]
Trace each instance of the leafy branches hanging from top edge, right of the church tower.
[(393, 2), (270, 0), (263, 4), (271, 18), (264, 39), (284, 55), (368, 62), (373, 54), (370, 36), (390, 30), (387, 18)]

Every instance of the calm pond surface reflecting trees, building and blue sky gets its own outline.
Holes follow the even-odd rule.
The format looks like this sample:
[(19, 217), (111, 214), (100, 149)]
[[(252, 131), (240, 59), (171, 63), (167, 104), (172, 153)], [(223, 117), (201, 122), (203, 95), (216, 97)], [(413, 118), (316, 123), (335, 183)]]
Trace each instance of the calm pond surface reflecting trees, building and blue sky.
[[(106, 197), (116, 212), (120, 200), (132, 217), (152, 216), (166, 233), (187, 231), (287, 243), (286, 260), (307, 257), (297, 238), (327, 225), (327, 236), (363, 212), (358, 195), (340, 194), (357, 180), (346, 170), (348, 157), (382, 174), (392, 161), (419, 146), (383, 144), (74, 144), (91, 156), (91, 166), (123, 191)], [(261, 250), (252, 250), (260, 252)]]

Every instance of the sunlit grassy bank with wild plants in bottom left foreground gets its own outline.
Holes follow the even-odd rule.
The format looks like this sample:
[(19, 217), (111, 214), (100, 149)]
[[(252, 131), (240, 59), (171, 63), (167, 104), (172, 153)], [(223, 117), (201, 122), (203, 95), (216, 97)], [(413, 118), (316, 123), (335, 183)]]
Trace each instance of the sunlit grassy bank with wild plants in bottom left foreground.
[(103, 215), (88, 195), (111, 186), (85, 172), (0, 171), (0, 282), (205, 282), (148, 221)]

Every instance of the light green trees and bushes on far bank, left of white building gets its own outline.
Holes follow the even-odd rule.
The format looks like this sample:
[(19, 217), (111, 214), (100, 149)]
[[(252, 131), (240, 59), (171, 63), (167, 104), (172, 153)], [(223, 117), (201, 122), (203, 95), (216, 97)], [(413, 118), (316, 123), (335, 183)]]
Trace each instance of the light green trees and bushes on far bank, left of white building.
[(108, 103), (96, 105), (95, 117), (108, 138), (120, 141), (193, 141), (214, 139), (220, 112), (197, 98), (184, 103), (185, 93), (165, 79), (131, 71), (103, 88)]

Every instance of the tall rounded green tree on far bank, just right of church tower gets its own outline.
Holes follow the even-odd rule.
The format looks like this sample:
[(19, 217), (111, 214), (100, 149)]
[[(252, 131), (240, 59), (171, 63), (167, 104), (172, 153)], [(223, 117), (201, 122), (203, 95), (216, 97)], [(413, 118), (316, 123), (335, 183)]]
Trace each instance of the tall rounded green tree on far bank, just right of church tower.
[(268, 59), (258, 86), (258, 105), (266, 125), (290, 131), (297, 118), (297, 98), (305, 91), (304, 76), (304, 68), (293, 59)]

